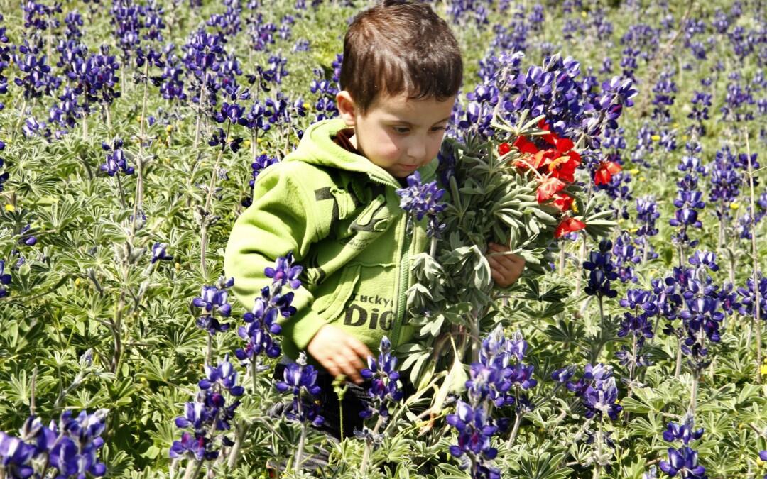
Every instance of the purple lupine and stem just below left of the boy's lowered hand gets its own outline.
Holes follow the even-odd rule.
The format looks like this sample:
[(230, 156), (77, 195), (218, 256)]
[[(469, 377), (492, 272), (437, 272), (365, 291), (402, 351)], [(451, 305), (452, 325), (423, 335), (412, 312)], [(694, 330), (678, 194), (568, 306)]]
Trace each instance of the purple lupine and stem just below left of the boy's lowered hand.
[(304, 442), (306, 441), (308, 424), (318, 426), (324, 422), (324, 418), (319, 415), (320, 406), (315, 402), (316, 396), (320, 393), (320, 386), (316, 384), (317, 369), (306, 363), (306, 353), (303, 351), (295, 363), (290, 363), (285, 367), (284, 379), (284, 381), (275, 382), (275, 387), (279, 392), (289, 391), (293, 395), (293, 401), (285, 412), (285, 416), (292, 421), (301, 423), (301, 438), (298, 440), (293, 464), (294, 470), (298, 472), (301, 470), (304, 456)]

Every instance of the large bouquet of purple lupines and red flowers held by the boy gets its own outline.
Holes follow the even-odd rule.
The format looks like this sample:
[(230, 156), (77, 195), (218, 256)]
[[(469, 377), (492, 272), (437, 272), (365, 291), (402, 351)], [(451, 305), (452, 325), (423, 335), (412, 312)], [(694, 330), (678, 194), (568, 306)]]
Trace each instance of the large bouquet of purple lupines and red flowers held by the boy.
[[(400, 352), (407, 354), (403, 369), (410, 369), (414, 384), (434, 386), (444, 379), (445, 392), (433, 402), (437, 408), (446, 388), (460, 388), (463, 363), (476, 362), (479, 338), (499, 323), (490, 307), (489, 241), (524, 258), (522, 283), (533, 284), (560, 248), (559, 238), (578, 231), (597, 238), (614, 225), (614, 212), (594, 185), (621, 170), (603, 157), (600, 143), (604, 130), (617, 129), (623, 108), (633, 104), (631, 80), (614, 77), (598, 90), (594, 77), (579, 78), (571, 57), (547, 57), (526, 72), (521, 60), (519, 53), (495, 59), (485, 84), (466, 95), (466, 110), (456, 109), (456, 129), (439, 153), (439, 181), (413, 180), (413, 191), (401, 192), (410, 212), (416, 190), (430, 197), (418, 205), (421, 216), (430, 216), (431, 254), (414, 258), (416, 284), (408, 294), (408, 320), (420, 326), (421, 337)], [(435, 374), (443, 356), (453, 367)]]

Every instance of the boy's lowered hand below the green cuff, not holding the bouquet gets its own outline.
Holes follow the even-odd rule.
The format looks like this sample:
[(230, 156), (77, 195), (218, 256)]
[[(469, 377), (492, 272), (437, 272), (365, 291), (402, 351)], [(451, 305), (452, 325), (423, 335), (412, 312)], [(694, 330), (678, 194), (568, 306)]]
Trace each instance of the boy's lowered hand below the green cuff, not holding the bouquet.
[(362, 383), (360, 370), (367, 367), (367, 356), (373, 356), (360, 340), (330, 324), (314, 334), (306, 350), (332, 376), (345, 374), (355, 384)]

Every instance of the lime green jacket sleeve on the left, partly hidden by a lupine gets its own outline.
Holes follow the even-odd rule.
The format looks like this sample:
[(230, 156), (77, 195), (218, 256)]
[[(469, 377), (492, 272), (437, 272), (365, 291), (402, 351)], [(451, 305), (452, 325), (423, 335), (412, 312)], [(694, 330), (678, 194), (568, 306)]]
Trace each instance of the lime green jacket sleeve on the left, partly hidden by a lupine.
[[(272, 283), (264, 274), (279, 256), (293, 252), (296, 263), (307, 253), (319, 234), (315, 202), (297, 181), (300, 164), (278, 163), (266, 169), (253, 187), (253, 203), (232, 227), (224, 254), (224, 271), (234, 277), (232, 291), (248, 310), (263, 287)], [(305, 174), (305, 173), (304, 173)], [(298, 349), (305, 349), (314, 333), (324, 326), (312, 310), (314, 296), (304, 286), (293, 290), (292, 305), (298, 310), (289, 318), (280, 317), (282, 335)]]

